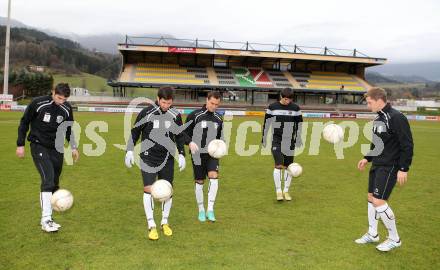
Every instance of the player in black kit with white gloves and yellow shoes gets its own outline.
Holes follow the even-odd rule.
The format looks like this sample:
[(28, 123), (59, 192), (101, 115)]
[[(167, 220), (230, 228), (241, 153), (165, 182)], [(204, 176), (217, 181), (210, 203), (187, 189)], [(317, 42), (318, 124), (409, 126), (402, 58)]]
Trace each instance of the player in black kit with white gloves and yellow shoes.
[[(144, 108), (137, 116), (131, 130), (131, 138), (127, 142), (125, 165), (134, 164), (134, 145), (142, 135), (140, 162), (144, 182), (143, 204), (148, 223), (148, 237), (150, 240), (159, 239), (154, 221), (154, 201), (151, 197), (151, 185), (156, 178), (164, 179), (173, 184), (174, 156), (176, 144), (180, 171), (185, 168), (184, 134), (182, 116), (173, 108), (173, 93), (171, 87), (161, 87), (157, 93), (157, 101)], [(168, 225), (168, 217), (173, 198), (162, 203), (161, 228), (166, 236), (173, 231)]]

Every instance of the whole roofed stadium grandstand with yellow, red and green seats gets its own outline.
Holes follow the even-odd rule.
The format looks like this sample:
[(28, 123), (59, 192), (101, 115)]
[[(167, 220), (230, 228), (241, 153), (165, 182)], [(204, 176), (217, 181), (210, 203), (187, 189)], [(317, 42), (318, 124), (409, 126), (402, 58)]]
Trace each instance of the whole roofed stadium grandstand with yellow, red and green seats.
[(301, 105), (359, 104), (369, 87), (365, 69), (386, 62), (356, 49), (163, 37), (127, 36), (118, 50), (122, 69), (109, 82), (115, 96), (167, 85), (181, 103), (218, 90), (231, 104), (266, 105), (289, 87)]

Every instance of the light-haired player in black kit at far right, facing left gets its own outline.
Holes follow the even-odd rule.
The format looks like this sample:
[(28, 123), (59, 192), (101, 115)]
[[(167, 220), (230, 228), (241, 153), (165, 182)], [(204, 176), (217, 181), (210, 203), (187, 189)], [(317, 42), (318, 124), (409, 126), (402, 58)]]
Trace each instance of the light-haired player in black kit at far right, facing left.
[(377, 113), (373, 122), (373, 140), (370, 152), (358, 162), (358, 169), (365, 170), (372, 162), (368, 183), (368, 232), (356, 239), (358, 244), (379, 241), (378, 219), (388, 230), (388, 238), (376, 246), (379, 251), (400, 247), (396, 219), (387, 201), (396, 182), (403, 185), (413, 157), (413, 139), (406, 117), (387, 103), (385, 90), (378, 87), (366, 93), (368, 108)]

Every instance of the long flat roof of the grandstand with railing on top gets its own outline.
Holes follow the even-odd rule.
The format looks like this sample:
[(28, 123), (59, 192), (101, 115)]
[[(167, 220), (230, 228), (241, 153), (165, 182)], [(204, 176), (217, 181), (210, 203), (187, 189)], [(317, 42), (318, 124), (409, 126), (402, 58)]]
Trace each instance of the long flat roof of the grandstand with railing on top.
[(228, 57), (248, 57), (277, 59), (281, 62), (293, 60), (358, 63), (364, 66), (382, 65), (385, 58), (370, 57), (357, 49), (336, 49), (328, 47), (308, 47), (299, 45), (230, 42), (200, 39), (175, 39), (126, 36), (126, 42), (118, 44), (119, 51), (139, 51), (150, 53), (221, 55)]

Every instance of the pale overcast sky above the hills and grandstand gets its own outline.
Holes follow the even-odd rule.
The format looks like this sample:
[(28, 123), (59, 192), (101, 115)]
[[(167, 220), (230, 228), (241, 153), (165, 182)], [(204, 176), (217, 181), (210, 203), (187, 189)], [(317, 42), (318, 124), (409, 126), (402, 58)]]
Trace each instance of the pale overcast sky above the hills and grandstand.
[(12, 0), (12, 18), (60, 33), (161, 33), (357, 48), (390, 63), (440, 61), (439, 0)]

